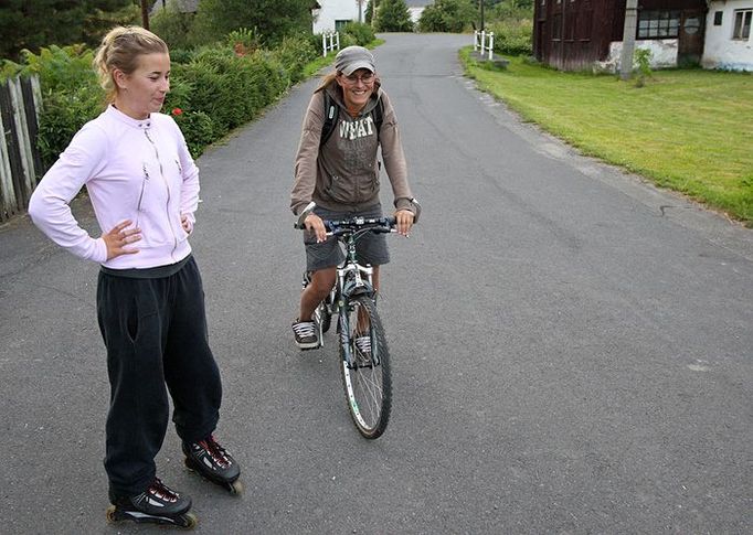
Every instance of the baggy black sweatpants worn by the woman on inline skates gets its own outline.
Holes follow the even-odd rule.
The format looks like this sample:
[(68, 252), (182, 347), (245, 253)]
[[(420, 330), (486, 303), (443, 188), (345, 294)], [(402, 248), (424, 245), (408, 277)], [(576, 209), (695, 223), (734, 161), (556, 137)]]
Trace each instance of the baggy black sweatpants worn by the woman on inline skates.
[(194, 259), (161, 278), (100, 271), (97, 315), (110, 384), (105, 470), (110, 492), (134, 495), (156, 475), (155, 457), (168, 427), (168, 389), (182, 440), (206, 437), (220, 417), (222, 384)]

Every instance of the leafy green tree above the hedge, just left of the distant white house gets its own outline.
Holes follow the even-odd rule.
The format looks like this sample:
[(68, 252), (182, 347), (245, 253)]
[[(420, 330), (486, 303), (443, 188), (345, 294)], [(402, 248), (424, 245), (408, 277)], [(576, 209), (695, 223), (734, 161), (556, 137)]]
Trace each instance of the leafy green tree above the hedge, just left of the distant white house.
[(197, 22), (218, 36), (245, 28), (274, 44), (311, 31), (311, 0), (201, 0)]

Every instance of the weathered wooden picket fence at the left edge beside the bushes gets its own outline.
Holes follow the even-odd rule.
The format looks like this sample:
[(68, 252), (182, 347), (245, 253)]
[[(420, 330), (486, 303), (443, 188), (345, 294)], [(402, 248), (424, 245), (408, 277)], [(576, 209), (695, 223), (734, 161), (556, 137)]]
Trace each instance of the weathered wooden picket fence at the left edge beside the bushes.
[(0, 84), (0, 223), (26, 210), (43, 172), (36, 149), (41, 106), (36, 76)]

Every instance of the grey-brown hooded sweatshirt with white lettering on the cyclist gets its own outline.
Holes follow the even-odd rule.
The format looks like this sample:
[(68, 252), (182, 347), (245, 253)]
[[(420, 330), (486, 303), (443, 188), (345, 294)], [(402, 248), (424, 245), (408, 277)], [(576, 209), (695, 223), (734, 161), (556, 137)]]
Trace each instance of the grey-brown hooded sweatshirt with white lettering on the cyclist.
[[(325, 124), (322, 92), (328, 92), (337, 104), (338, 117), (335, 131), (319, 150)], [(378, 133), (372, 113), (380, 98), (383, 119)], [(290, 194), (293, 213), (298, 215), (311, 201), (336, 212), (361, 212), (378, 204), (380, 163), (376, 149), (380, 145), (395, 207), (415, 214), (395, 111), (379, 82), (371, 99), (356, 118), (348, 114), (336, 81), (315, 92), (306, 110), (296, 156), (295, 184)]]

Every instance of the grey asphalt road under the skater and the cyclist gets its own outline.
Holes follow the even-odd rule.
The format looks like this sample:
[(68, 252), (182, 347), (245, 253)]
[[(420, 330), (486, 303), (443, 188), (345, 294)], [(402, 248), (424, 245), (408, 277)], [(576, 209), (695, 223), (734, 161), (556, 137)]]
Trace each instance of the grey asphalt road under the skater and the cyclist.
[[(188, 473), (172, 430), (159, 473), (198, 533), (750, 533), (753, 233), (519, 122), (462, 76), (469, 42), (375, 50), (424, 206), (384, 268), (386, 434), (350, 424), (332, 339), (289, 332), (312, 79), (198, 162), (218, 435), (246, 493)], [(157, 531), (105, 523), (96, 272), (26, 217), (0, 227), (1, 533)]]

